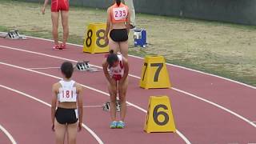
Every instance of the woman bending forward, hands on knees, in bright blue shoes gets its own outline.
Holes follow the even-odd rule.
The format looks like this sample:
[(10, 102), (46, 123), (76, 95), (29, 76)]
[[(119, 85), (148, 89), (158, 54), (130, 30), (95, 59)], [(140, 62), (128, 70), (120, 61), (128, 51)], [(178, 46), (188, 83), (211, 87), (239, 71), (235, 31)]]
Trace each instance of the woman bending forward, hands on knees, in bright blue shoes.
[[(124, 128), (124, 119), (126, 117), (126, 90), (128, 86), (129, 66), (127, 59), (122, 57), (122, 54), (114, 54), (110, 50), (110, 54), (102, 62), (104, 74), (107, 79), (107, 87), (110, 93), (110, 117), (112, 122), (110, 128)], [(116, 118), (116, 101), (117, 93), (121, 104), (120, 121)]]

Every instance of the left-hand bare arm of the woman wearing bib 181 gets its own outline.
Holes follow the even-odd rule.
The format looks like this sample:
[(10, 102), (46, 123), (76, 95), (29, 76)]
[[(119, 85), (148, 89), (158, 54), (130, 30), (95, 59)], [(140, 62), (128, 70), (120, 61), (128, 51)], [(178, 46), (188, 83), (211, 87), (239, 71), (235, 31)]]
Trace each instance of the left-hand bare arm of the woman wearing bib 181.
[(56, 112), (57, 94), (58, 94), (58, 83), (55, 83), (52, 86), (52, 100), (51, 100), (52, 130), (54, 130), (54, 118), (55, 118), (55, 112)]

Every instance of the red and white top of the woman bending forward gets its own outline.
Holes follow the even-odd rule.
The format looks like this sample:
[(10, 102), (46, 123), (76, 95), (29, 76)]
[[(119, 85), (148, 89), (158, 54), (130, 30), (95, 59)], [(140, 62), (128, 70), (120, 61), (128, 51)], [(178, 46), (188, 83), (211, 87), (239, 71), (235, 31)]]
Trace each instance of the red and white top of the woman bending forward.
[(124, 74), (124, 66), (122, 63), (122, 54), (118, 54), (118, 66), (108, 68), (111, 78), (114, 78), (116, 81), (119, 81)]

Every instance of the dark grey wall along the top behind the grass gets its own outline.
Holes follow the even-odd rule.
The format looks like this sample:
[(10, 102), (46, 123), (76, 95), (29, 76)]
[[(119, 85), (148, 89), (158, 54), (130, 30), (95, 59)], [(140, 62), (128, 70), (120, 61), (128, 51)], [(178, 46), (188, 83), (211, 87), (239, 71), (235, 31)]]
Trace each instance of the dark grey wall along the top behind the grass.
[[(44, 0), (20, 0), (44, 2)], [(114, 0), (70, 0), (71, 6), (106, 8)], [(134, 0), (137, 13), (256, 26), (256, 0)]]

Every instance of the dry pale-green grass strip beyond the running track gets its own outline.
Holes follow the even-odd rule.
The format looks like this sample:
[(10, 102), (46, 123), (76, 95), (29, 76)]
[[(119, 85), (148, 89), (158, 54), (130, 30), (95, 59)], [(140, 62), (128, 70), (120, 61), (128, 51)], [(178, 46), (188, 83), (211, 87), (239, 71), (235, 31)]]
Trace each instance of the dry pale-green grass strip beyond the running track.
[[(45, 15), (41, 8), (42, 3), (0, 0), (0, 31), (18, 29), (22, 34), (51, 39), (50, 5)], [(149, 45), (134, 47), (130, 34), (130, 54), (160, 54), (169, 63), (256, 86), (256, 26), (136, 16), (138, 27), (147, 31)], [(69, 42), (82, 45), (90, 22), (106, 22), (106, 10), (71, 7)]]

